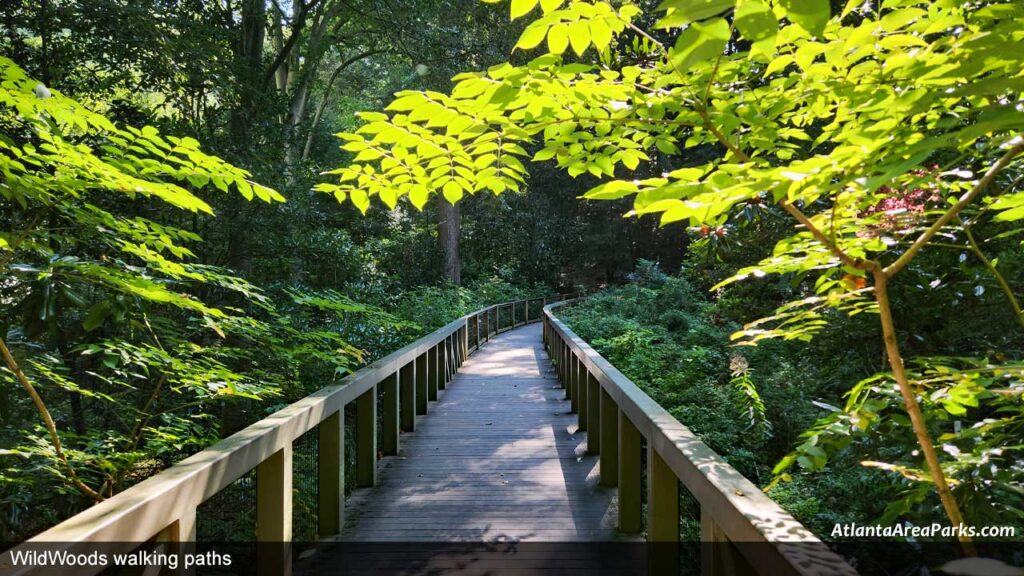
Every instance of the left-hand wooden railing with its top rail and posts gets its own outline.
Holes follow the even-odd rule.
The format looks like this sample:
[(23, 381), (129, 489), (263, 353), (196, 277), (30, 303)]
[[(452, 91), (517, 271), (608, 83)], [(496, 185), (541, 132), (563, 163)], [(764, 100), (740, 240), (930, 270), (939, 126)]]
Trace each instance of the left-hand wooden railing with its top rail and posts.
[[(546, 304), (572, 296), (574, 294), (528, 301)], [(44, 543), (49, 544), (48, 549), (56, 549), (53, 546), (59, 545), (71, 552), (104, 544), (106, 553), (117, 553), (131, 551), (133, 544), (151, 539), (194, 542), (199, 505), (254, 469), (258, 478), (257, 515), (264, 520), (258, 523), (256, 539), (290, 542), (292, 443), (317, 427), (319, 530), (322, 536), (338, 533), (344, 525), (345, 407), (351, 403), (357, 406), (356, 484), (373, 486), (378, 457), (378, 388), (387, 398), (386, 402), (395, 403), (385, 405), (382, 448), (386, 453), (396, 453), (397, 430), (399, 427), (410, 430), (415, 425), (415, 414), (410, 411), (426, 414), (426, 400), (436, 399), (437, 389), (443, 388), (466, 358), (479, 348), (481, 337), (516, 326), (514, 317), (510, 319), (510, 326), (500, 326), (499, 312), (504, 307), (514, 310), (517, 304), (525, 306), (526, 302), (502, 302), (455, 320), (346, 376), (338, 384), (324, 387), (61, 522), (0, 556), (0, 574), (60, 574), (62, 569), (59, 567), (11, 565), (12, 554), (7, 552)], [(540, 322), (541, 318), (531, 322)], [(474, 331), (473, 346), (469, 345), (470, 330)], [(271, 521), (266, 522), (266, 519)], [(105, 568), (76, 567), (76, 574), (88, 576)], [(261, 560), (259, 568), (266, 574), (290, 574), (291, 558), (287, 551), (274, 554), (267, 562)]]

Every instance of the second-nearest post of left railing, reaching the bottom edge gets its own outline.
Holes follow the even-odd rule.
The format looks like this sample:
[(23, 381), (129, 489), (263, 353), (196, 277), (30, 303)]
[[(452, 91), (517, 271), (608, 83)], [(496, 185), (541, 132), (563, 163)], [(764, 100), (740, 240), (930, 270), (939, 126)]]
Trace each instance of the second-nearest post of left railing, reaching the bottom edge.
[(256, 466), (256, 541), (260, 575), (292, 573), (291, 443)]

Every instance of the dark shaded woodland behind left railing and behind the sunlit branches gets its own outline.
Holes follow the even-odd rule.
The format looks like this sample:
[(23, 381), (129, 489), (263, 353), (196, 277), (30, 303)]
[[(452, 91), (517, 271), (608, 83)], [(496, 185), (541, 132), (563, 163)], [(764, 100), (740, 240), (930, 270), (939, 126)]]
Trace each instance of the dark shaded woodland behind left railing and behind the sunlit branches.
[[(223, 278), (178, 289), (266, 323), (236, 327), (216, 358), (170, 345), (217, 339), (187, 311), (30, 279), (35, 268), (0, 285), (0, 332), (39, 363), (26, 368), (41, 380), (67, 456), (104, 494), (478, 305), (622, 281), (637, 256), (669, 269), (682, 260), (685, 231), (623, 218), (622, 205), (580, 202), (593, 181), (551, 167), (531, 176), (528, 195), (481, 195), (458, 209), (434, 201), (364, 217), (311, 191), (321, 172), (351, 158), (332, 134), (351, 128), (356, 111), (381, 108), (399, 89), (447, 90), (458, 71), (508, 57), (522, 27), (477, 0), (24, 0), (3, 3), (0, 28), (0, 54), (49, 89), (120, 125), (194, 137), (287, 198), (203, 192), (215, 216), (92, 199), (128, 220), (202, 238), (188, 246), (193, 259)], [(43, 212), (7, 200), (0, 211), (11, 236)], [(110, 247), (81, 222), (43, 220), (53, 224), (34, 229), (45, 256), (31, 263), (106, 257)], [(267, 339), (269, 356), (246, 349)], [(219, 398), (155, 386), (186, 361), (240, 385)], [(183, 387), (204, 378), (176, 377)], [(0, 540), (88, 505), (7, 369), (0, 447)]]

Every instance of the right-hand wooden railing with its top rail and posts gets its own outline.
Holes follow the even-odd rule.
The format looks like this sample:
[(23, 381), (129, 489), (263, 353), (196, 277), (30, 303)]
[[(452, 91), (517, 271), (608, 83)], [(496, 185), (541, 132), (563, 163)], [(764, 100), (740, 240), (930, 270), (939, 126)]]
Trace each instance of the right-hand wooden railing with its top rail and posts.
[[(578, 300), (544, 307), (544, 341), (580, 426), (587, 429), (588, 451), (600, 454), (601, 484), (618, 487), (621, 530), (641, 530), (641, 458), (646, 457), (648, 541), (678, 542), (682, 483), (700, 503), (705, 574), (856, 574), (555, 317), (555, 308)], [(647, 441), (646, 455), (640, 454), (640, 437)]]

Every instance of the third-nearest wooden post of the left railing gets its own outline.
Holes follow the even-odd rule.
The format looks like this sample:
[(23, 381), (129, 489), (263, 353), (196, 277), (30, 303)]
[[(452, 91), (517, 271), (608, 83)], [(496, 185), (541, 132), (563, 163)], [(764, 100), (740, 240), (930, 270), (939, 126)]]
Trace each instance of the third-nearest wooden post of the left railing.
[(333, 536), (345, 524), (345, 410), (325, 418), (316, 436), (317, 532)]

